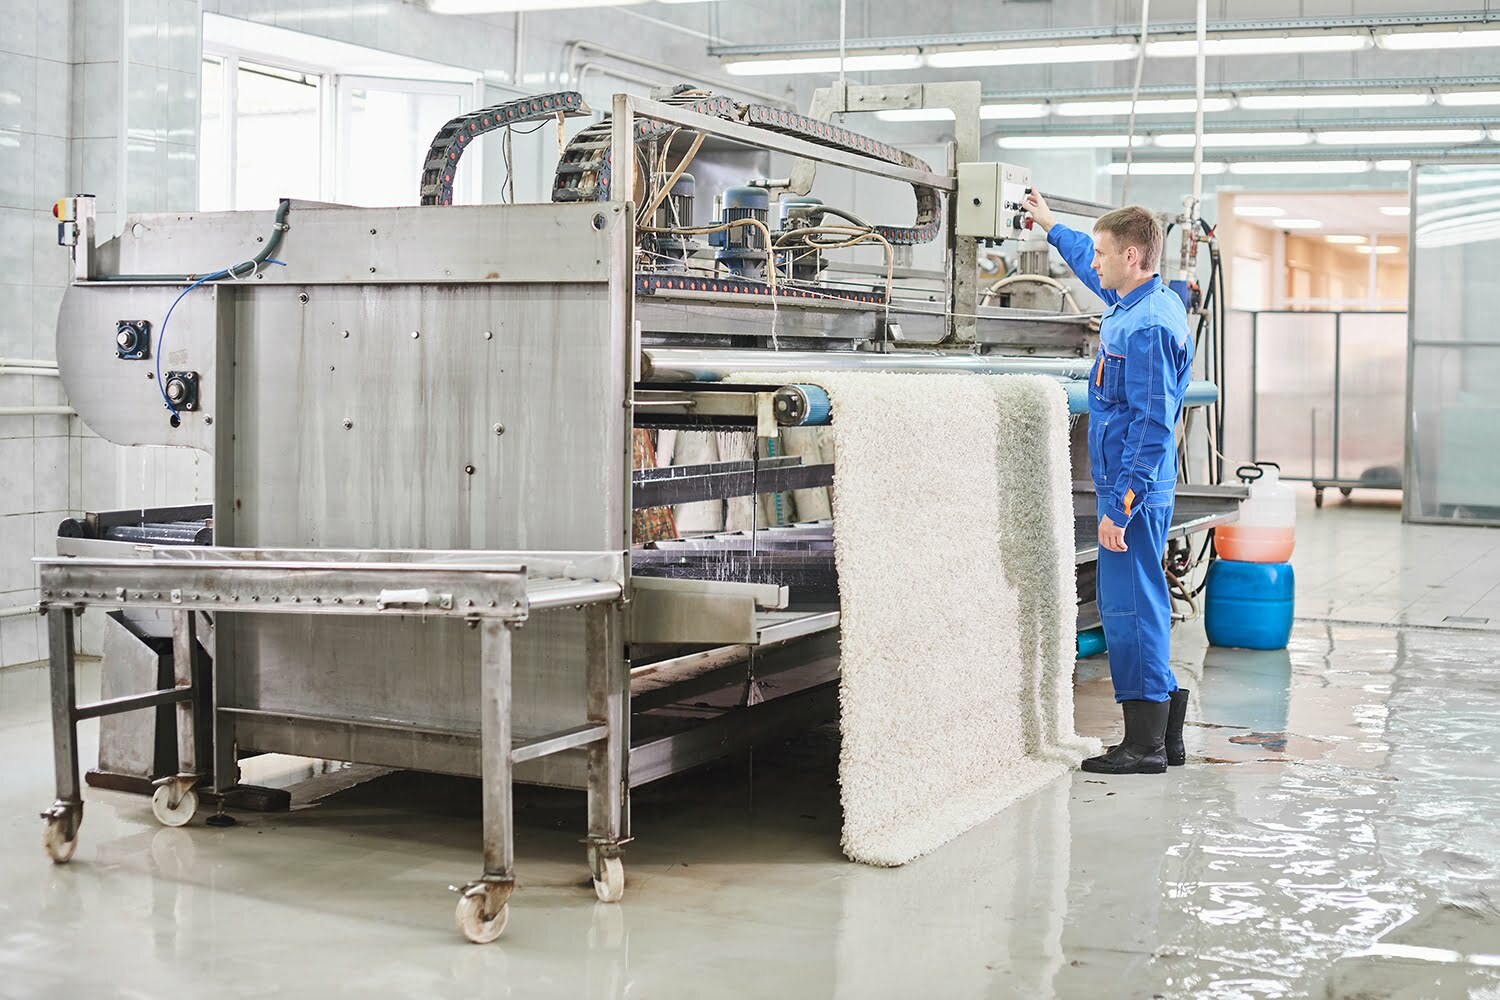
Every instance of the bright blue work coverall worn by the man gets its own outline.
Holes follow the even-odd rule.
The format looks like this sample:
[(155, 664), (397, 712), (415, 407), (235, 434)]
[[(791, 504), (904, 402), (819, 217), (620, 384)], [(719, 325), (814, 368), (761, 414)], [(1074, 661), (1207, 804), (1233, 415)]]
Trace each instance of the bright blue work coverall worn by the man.
[(1089, 465), (1098, 514), (1125, 529), (1126, 552), (1100, 547), (1098, 603), (1114, 700), (1166, 702), (1172, 598), (1161, 568), (1178, 484), (1174, 429), (1192, 378), (1182, 300), (1160, 276), (1128, 295), (1100, 288), (1094, 240), (1053, 225), (1047, 241), (1108, 309), (1089, 375)]

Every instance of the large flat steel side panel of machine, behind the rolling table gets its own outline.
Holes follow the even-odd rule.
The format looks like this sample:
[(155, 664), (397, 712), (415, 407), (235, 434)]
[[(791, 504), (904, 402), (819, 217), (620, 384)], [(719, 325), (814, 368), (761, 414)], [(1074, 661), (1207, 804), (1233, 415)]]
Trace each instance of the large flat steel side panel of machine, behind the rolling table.
[[(627, 549), (630, 307), (615, 301), (628, 283), (610, 258), (628, 243), (612, 235), (588, 282), (262, 285), (242, 297), (232, 498), (220, 499), (236, 544)], [(516, 634), (518, 736), (585, 718), (582, 618), (542, 612)], [(243, 616), (234, 636), (234, 694), (220, 705), (478, 729), (478, 633), (460, 622)], [(256, 748), (316, 742), (296, 727), (284, 736)], [(414, 766), (422, 744), (414, 733)], [(580, 765), (566, 754), (519, 774), (582, 786)]]

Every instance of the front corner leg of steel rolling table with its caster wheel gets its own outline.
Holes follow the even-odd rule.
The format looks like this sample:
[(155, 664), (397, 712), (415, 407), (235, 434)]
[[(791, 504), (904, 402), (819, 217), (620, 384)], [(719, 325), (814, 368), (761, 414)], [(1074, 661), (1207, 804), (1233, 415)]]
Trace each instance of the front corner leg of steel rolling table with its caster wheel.
[(460, 891), (454, 919), (476, 945), (506, 930), (516, 889), (510, 759), (510, 622), (480, 622), (480, 786), (484, 801), (484, 874)]

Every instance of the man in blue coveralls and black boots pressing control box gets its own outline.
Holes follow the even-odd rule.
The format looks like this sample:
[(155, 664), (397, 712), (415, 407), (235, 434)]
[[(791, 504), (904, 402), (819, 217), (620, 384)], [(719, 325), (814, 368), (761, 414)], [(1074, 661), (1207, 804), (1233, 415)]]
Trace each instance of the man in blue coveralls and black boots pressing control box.
[(1098, 603), (1125, 739), (1083, 762), (1095, 774), (1161, 774), (1182, 765), (1188, 693), (1168, 664), (1172, 598), (1161, 559), (1178, 484), (1176, 426), (1192, 378), (1182, 300), (1155, 273), (1161, 225), (1140, 205), (1094, 225), (1059, 225), (1047, 202), (1026, 207), (1072, 273), (1108, 306), (1089, 378), (1089, 465), (1098, 493)]

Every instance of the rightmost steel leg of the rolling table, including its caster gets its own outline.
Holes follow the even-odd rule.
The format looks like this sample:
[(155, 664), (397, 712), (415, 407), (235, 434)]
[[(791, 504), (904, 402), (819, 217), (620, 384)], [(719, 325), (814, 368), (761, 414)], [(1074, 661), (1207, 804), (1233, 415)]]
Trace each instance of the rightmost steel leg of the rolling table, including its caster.
[(610, 642), (608, 604), (584, 609), (588, 721), (608, 735), (588, 748), (588, 868), (603, 903), (618, 903), (626, 892), (621, 847), (630, 840), (630, 670)]

